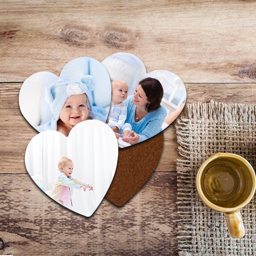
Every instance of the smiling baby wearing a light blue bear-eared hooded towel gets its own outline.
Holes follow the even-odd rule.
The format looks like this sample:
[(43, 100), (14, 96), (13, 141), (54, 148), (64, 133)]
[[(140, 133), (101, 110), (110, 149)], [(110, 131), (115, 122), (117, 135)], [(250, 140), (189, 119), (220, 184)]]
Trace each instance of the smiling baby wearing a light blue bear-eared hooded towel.
[(46, 123), (44, 131), (55, 130), (68, 136), (74, 125), (84, 120), (98, 119), (105, 122), (103, 115), (93, 111), (90, 91), (95, 88), (95, 84), (95, 78), (86, 75), (80, 81), (59, 79), (46, 87), (45, 99), (53, 118)]

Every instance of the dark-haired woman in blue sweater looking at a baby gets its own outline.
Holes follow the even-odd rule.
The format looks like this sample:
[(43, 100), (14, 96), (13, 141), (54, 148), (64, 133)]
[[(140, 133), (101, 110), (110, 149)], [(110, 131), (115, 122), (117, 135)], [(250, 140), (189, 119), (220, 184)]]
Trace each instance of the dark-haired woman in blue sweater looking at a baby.
[(163, 96), (164, 90), (159, 80), (148, 77), (139, 82), (134, 95), (125, 100), (125, 123), (131, 125), (132, 131), (127, 132), (129, 125), (123, 126), (123, 141), (136, 144), (161, 132), (166, 118), (166, 109), (160, 105)]

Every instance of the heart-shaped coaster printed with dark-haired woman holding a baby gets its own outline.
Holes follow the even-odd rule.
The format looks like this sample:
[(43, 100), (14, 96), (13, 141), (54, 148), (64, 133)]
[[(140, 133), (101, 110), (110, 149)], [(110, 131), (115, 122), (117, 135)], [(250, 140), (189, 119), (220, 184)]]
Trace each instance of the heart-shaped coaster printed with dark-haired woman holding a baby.
[[(129, 123), (130, 126), (123, 126), (121, 133), (123, 139), (118, 139), (120, 148), (131, 146), (134, 144), (134, 139), (137, 143), (155, 136), (171, 124), (184, 108), (187, 92), (182, 79), (176, 74), (167, 70), (147, 73), (141, 59), (124, 52), (108, 56), (102, 64), (108, 70), (112, 81), (112, 102), (115, 90), (117, 95), (115, 98), (118, 97), (120, 90), (128, 90), (125, 100), (127, 106), (125, 123)], [(118, 105), (112, 106), (108, 119), (112, 118), (116, 123), (116, 113), (120, 110), (122, 111), (122, 108)], [(119, 118), (118, 124), (120, 120)], [(133, 131), (129, 134), (130, 137), (128, 131)]]

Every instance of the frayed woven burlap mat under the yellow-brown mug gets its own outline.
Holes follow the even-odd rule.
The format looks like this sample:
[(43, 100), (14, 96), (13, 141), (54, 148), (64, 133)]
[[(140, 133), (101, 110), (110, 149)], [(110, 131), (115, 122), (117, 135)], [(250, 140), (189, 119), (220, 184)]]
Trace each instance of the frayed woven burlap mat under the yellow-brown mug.
[(241, 215), (245, 236), (233, 239), (223, 213), (204, 205), (195, 189), (195, 174), (218, 152), (243, 156), (256, 170), (256, 105), (219, 102), (187, 105), (176, 123), (178, 253), (190, 255), (256, 255), (256, 196)]

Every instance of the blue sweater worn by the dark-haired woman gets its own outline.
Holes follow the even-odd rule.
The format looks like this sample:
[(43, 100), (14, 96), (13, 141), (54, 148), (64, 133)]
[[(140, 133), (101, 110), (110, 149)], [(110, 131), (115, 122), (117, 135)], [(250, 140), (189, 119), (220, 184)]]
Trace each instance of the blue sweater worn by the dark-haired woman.
[[(129, 123), (133, 131), (139, 135), (138, 142), (145, 141), (162, 131), (161, 126), (167, 115), (164, 107), (161, 106), (159, 109), (149, 112), (141, 120), (135, 122), (136, 105), (133, 104), (133, 95), (125, 100), (125, 105), (127, 106), (125, 123)], [(126, 130), (125, 125), (123, 126), (124, 131)]]

